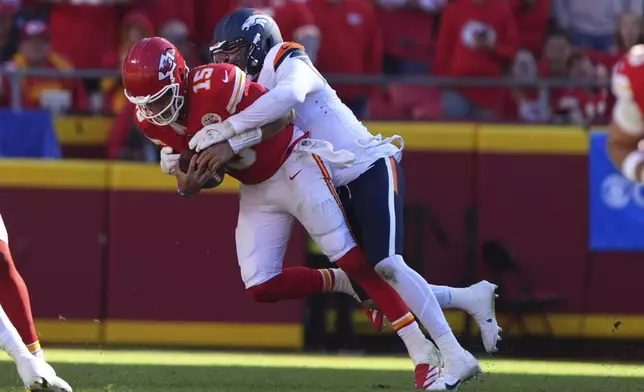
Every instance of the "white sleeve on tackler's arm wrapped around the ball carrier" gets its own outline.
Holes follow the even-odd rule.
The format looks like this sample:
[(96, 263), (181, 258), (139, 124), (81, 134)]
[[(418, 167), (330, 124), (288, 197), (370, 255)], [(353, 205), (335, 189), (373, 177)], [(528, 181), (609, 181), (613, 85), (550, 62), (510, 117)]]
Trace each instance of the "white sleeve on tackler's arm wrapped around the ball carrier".
[(248, 108), (228, 118), (236, 133), (261, 127), (286, 115), (306, 96), (320, 90), (325, 81), (308, 59), (287, 58), (275, 71), (277, 85)]

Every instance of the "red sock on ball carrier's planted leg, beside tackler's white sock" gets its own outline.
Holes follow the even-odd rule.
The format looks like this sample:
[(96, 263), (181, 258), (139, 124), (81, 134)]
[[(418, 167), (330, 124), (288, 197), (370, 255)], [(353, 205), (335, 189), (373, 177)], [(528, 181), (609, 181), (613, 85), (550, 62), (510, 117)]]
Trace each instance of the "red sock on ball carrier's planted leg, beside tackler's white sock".
[(357, 247), (351, 249), (336, 262), (336, 265), (362, 286), (367, 295), (382, 310), (385, 317), (391, 322), (397, 322), (398, 328), (402, 328), (414, 320), (409, 308), (396, 290), (385, 282), (373, 267), (367, 264), (362, 250)]

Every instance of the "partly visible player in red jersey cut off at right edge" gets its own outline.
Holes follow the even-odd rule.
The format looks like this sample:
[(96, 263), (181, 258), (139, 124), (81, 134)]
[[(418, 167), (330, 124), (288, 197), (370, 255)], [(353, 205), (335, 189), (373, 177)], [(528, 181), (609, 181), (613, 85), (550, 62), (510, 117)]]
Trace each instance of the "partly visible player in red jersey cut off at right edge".
[(607, 152), (626, 178), (644, 183), (644, 45), (633, 46), (615, 66), (612, 87), (617, 101)]

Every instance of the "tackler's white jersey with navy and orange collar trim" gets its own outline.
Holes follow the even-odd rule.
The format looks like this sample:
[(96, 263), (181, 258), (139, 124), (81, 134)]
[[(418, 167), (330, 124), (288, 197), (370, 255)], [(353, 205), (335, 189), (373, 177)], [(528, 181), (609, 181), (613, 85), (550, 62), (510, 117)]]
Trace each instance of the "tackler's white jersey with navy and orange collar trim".
[[(228, 121), (237, 131), (252, 129), (295, 109), (293, 124), (308, 131), (312, 139), (330, 142), (335, 150), (355, 154), (354, 164), (333, 168), (334, 185), (356, 179), (376, 160), (396, 155), (400, 149), (372, 135), (335, 90), (313, 66), (301, 45), (274, 46), (264, 60), (257, 82), (269, 92)], [(265, 98), (265, 99), (264, 99)]]

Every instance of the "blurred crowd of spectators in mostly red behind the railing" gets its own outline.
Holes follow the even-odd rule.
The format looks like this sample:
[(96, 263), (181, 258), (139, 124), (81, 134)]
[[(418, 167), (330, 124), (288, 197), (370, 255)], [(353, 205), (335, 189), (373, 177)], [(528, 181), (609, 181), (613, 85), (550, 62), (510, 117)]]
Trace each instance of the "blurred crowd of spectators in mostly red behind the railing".
[[(589, 86), (544, 94), (334, 85), (363, 118), (590, 124), (610, 111), (612, 67), (642, 42), (644, 0), (0, 0), (0, 63), (117, 70), (133, 42), (160, 35), (195, 66), (208, 62), (216, 22), (236, 7), (271, 14), (284, 39), (302, 43), (326, 75), (566, 78)], [(119, 155), (133, 110), (119, 78), (28, 77), (20, 84), (23, 107), (122, 114), (110, 150)], [(2, 78), (0, 106), (9, 105), (11, 88)]]

